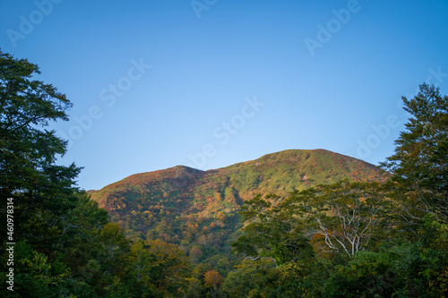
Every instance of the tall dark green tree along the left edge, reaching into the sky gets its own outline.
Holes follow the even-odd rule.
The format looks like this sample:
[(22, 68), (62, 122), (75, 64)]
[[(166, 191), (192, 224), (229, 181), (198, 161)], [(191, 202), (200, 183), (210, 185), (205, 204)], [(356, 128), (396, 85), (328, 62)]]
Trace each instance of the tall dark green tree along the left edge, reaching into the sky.
[[(53, 86), (33, 80), (36, 74), (37, 65), (0, 51), (0, 200), (3, 209), (13, 202), (13, 213), (2, 212), (0, 219), (6, 223), (8, 214), (14, 223), (14, 294), (49, 297), (70, 286), (69, 268), (57, 252), (71, 228), (66, 214), (78, 204), (74, 179), (80, 168), (55, 164), (65, 154), (65, 141), (46, 127), (67, 120), (71, 104)], [(5, 243), (1, 248), (5, 258)], [(2, 277), (9, 268), (2, 261)], [(1, 291), (12, 294), (3, 286)]]

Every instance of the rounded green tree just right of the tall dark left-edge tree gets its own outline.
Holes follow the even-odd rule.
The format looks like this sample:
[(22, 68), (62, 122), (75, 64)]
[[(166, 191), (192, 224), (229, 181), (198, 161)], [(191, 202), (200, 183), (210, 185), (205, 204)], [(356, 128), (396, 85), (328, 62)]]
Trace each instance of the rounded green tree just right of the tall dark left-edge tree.
[[(80, 192), (76, 207), (65, 215), (64, 246), (57, 253), (71, 269), (72, 280), (85, 285), (90, 296), (114, 292), (113, 285), (125, 275), (129, 241), (117, 224), (108, 222), (108, 212), (99, 209), (90, 195)], [(123, 278), (121, 278), (123, 279)], [(120, 296), (125, 294), (120, 291)]]

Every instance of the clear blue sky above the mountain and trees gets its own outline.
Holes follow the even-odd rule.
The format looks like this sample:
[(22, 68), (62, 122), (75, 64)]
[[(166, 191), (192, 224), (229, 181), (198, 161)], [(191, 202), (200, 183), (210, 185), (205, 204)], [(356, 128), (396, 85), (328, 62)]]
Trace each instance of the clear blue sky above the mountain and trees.
[(448, 94), (448, 1), (9, 1), (0, 47), (73, 102), (79, 185), (283, 149), (377, 164), (423, 81)]

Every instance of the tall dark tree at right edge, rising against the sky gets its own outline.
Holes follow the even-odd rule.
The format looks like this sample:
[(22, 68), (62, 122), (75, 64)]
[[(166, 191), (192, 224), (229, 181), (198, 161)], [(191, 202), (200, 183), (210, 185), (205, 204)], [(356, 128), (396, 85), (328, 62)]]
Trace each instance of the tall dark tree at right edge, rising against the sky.
[(448, 97), (424, 83), (415, 98), (402, 99), (407, 130), (383, 169), (392, 173), (409, 217), (432, 211), (448, 222)]

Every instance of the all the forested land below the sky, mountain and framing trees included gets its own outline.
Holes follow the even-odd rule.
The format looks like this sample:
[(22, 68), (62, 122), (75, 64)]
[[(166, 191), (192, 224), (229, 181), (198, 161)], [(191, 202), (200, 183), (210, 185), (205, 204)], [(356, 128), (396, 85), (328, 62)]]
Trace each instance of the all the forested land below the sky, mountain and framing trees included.
[(448, 97), (435, 86), (403, 98), (409, 121), (381, 170), (285, 151), (88, 193), (48, 129), (72, 104), (39, 73), (0, 52), (2, 297), (448, 296)]

